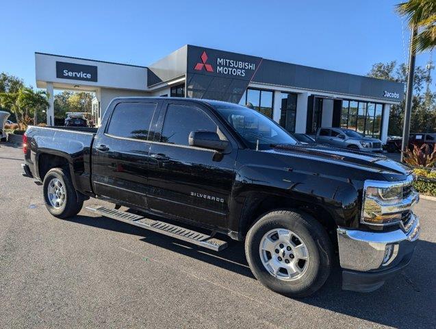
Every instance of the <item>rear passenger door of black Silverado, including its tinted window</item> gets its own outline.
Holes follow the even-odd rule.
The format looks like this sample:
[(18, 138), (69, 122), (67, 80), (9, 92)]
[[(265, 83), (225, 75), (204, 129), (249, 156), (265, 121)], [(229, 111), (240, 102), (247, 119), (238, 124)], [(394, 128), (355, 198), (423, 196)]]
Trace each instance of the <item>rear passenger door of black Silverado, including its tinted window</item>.
[(149, 131), (162, 101), (120, 100), (112, 104), (92, 147), (92, 183), (97, 195), (147, 207)]

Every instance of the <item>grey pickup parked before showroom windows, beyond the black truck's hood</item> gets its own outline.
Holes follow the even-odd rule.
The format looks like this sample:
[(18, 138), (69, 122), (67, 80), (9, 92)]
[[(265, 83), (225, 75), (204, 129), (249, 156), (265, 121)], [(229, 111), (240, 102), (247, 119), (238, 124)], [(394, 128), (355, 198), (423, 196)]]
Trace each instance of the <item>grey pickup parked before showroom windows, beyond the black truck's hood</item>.
[(316, 132), (317, 143), (345, 147), (359, 151), (383, 152), (381, 140), (366, 137), (344, 128), (320, 128)]

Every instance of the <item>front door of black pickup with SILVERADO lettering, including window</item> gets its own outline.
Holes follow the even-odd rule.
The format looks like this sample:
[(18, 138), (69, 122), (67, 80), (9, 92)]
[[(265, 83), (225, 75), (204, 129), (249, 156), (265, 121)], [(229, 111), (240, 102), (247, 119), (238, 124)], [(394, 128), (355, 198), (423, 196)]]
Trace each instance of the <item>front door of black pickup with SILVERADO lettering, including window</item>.
[(150, 150), (149, 207), (225, 228), (237, 147), (218, 152), (189, 145), (192, 131), (223, 132), (214, 114), (199, 103), (164, 102), (159, 127)]

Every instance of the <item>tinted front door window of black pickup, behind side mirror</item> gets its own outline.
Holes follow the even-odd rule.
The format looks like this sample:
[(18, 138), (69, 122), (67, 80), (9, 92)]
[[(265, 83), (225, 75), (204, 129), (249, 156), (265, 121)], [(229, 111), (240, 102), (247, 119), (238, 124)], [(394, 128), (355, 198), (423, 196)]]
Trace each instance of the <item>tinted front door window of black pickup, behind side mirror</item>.
[(166, 110), (161, 141), (189, 145), (189, 134), (196, 130), (216, 132), (217, 125), (200, 108), (170, 104)]

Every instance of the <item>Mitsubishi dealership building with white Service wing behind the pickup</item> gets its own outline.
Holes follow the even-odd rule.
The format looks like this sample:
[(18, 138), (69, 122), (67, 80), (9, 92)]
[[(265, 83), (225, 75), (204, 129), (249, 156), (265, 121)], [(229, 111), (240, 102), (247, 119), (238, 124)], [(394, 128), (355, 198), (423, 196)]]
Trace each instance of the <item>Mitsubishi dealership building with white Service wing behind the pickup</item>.
[(97, 125), (114, 97), (192, 97), (251, 103), (289, 132), (348, 127), (385, 142), (390, 107), (404, 94), (398, 82), (192, 45), (149, 66), (35, 53), (35, 69), (36, 86), (51, 95), (49, 125), (53, 91), (77, 90), (95, 93)]

